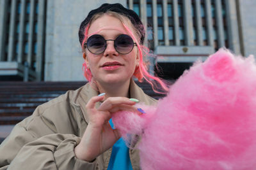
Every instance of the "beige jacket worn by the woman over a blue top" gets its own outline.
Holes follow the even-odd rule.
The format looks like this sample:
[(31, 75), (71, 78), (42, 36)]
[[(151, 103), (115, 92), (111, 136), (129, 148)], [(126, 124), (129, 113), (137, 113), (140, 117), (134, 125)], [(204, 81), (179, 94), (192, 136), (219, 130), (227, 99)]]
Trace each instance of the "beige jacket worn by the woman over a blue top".
[[(97, 95), (87, 83), (38, 106), (33, 115), (15, 125), (0, 145), (0, 170), (107, 169), (112, 149), (93, 162), (79, 160), (74, 153), (88, 122), (85, 105)], [(148, 105), (156, 103), (134, 81), (130, 96)], [(138, 150), (129, 150), (129, 155), (132, 168), (140, 169)]]

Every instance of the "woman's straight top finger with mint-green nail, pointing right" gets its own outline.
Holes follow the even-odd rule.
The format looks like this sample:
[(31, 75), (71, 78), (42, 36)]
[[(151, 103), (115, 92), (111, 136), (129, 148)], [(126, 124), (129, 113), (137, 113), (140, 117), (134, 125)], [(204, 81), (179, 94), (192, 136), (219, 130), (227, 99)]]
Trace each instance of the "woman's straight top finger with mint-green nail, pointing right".
[(113, 108), (116, 105), (120, 105), (120, 104), (134, 105), (134, 104), (136, 104), (136, 102), (131, 101), (127, 97), (109, 97), (108, 99), (106, 99), (106, 101), (104, 101), (100, 105), (98, 110), (100, 110), (100, 111), (111, 110), (111, 108)]

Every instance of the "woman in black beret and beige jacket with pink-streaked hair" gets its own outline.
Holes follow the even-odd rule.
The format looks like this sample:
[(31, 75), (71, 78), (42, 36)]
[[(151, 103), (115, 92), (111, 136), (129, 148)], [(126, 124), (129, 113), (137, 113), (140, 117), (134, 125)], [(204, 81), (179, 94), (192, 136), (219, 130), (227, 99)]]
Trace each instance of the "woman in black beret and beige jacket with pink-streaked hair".
[[(134, 83), (153, 78), (144, 66), (141, 20), (121, 4), (102, 4), (79, 29), (84, 76), (90, 83), (36, 108), (0, 146), (0, 169), (139, 169), (138, 150), (125, 148), (109, 124), (119, 110), (154, 104)], [(131, 145), (136, 145), (136, 136)], [(113, 149), (112, 149), (113, 147)], [(122, 161), (122, 164), (118, 162)], [(120, 167), (123, 166), (123, 167)]]

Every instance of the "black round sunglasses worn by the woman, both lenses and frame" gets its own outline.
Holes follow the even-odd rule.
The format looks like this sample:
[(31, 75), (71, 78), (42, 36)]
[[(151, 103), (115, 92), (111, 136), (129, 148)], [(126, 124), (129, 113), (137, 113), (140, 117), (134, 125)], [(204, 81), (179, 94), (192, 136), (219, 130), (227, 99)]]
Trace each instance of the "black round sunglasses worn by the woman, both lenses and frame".
[(107, 41), (114, 41), (116, 52), (121, 54), (127, 54), (131, 52), (134, 45), (137, 45), (136, 43), (134, 43), (131, 36), (128, 36), (126, 34), (121, 34), (116, 39), (104, 39), (103, 36), (95, 34), (90, 36), (90, 38), (87, 39), (87, 43), (84, 43), (84, 45), (86, 45), (87, 49), (91, 53), (100, 54), (106, 50)]

